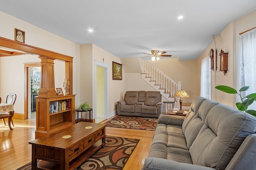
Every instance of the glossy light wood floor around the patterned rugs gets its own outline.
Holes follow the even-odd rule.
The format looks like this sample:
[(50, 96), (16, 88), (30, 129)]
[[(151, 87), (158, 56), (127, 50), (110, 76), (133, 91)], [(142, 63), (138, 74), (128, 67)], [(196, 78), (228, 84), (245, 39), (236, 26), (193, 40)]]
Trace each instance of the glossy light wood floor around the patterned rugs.
[[(0, 169), (2, 170), (16, 170), (31, 161), (31, 145), (28, 142), (35, 139), (36, 121), (13, 119), (13, 122), (15, 127), (11, 131), (0, 120)], [(141, 169), (148, 156), (153, 134), (154, 131), (106, 127), (106, 135), (140, 139), (124, 170)]]

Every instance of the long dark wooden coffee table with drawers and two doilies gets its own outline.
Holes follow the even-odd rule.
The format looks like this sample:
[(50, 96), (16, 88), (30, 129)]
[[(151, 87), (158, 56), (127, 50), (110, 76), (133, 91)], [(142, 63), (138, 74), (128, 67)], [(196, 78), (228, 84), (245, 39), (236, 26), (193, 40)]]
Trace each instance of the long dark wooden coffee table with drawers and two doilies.
[[(101, 147), (105, 147), (105, 124), (80, 122), (30, 141), (32, 170), (75, 169)], [(70, 138), (63, 139), (62, 137)], [(40, 160), (38, 162), (38, 160)]]

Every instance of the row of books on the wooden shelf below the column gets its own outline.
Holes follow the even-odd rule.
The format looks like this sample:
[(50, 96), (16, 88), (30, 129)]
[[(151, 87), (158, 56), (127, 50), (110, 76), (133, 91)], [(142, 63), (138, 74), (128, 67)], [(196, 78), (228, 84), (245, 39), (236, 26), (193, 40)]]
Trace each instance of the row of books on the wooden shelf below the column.
[(50, 114), (70, 109), (70, 99), (50, 102)]

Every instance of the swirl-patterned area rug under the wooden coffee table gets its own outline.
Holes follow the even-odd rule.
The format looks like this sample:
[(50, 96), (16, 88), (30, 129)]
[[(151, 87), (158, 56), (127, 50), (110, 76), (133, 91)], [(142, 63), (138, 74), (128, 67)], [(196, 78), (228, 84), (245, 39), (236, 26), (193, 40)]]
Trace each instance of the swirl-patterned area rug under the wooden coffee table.
[[(106, 146), (76, 170), (122, 170), (140, 139), (106, 136)], [(31, 162), (17, 170), (31, 170)]]

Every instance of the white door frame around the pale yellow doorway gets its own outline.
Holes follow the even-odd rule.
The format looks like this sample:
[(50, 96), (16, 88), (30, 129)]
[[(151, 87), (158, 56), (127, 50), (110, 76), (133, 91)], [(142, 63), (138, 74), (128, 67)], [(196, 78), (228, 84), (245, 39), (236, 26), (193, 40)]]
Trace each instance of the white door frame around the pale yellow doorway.
[(108, 115), (108, 106), (109, 106), (109, 101), (108, 101), (108, 96), (109, 96), (109, 88), (108, 88), (108, 80), (109, 80), (109, 64), (106, 63), (102, 63), (100, 61), (94, 61), (94, 118), (95, 118), (95, 122), (97, 121), (97, 98), (96, 98), (96, 94), (97, 94), (97, 66), (103, 67), (104, 68), (104, 102), (105, 102), (105, 106), (104, 106), (104, 118), (107, 119), (107, 115)]

